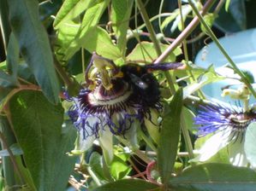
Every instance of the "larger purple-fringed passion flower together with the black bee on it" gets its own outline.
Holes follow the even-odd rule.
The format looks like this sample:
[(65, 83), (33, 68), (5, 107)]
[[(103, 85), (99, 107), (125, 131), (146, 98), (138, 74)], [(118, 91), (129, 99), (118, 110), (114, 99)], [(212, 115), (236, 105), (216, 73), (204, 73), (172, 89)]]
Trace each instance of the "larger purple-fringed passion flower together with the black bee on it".
[[(165, 70), (181, 67), (181, 63), (161, 64)], [(161, 65), (155, 69), (161, 69)], [(152, 70), (152, 65), (148, 69)], [(117, 67), (97, 54), (86, 68), (86, 87), (74, 101), (68, 115), (80, 132), (80, 150), (90, 148), (96, 138), (104, 134), (126, 136), (145, 118), (151, 119), (150, 110), (162, 109), (157, 78), (146, 67), (125, 65)]]

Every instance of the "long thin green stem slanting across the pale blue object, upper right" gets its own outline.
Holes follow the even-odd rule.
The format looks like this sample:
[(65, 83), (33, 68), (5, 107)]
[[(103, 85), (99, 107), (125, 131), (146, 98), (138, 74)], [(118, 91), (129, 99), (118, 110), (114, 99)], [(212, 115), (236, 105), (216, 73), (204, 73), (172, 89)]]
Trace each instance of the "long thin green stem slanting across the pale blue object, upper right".
[(240, 71), (238, 67), (236, 67), (235, 62), (231, 59), (231, 57), (228, 55), (227, 51), (223, 48), (221, 43), (219, 43), (217, 37), (215, 34), (211, 31), (210, 26), (208, 26), (203, 18), (203, 16), (199, 13), (199, 10), (196, 8), (192, 0), (188, 0), (188, 3), (191, 5), (193, 12), (197, 15), (197, 18), (199, 18), (201, 24), (205, 27), (205, 30), (208, 32), (208, 35), (211, 37), (214, 43), (216, 43), (217, 48), (223, 53), (223, 55), (226, 57), (226, 59), (229, 61), (229, 64), (233, 67), (233, 70), (241, 77), (241, 81), (244, 82), (247, 85), (247, 88), (251, 91), (254, 97), (256, 97), (256, 92), (253, 90), (252, 84), (249, 83), (243, 72)]

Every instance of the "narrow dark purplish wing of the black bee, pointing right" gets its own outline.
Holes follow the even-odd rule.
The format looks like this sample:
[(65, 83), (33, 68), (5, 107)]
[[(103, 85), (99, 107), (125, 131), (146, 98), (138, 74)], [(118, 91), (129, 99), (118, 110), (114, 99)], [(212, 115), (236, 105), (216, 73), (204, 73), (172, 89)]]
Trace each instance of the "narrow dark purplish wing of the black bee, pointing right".
[(167, 70), (177, 69), (178, 67), (183, 67), (183, 66), (184, 65), (181, 62), (166, 62), (166, 63), (158, 63), (158, 64), (148, 64), (145, 67), (150, 71), (155, 71), (155, 70), (167, 71)]

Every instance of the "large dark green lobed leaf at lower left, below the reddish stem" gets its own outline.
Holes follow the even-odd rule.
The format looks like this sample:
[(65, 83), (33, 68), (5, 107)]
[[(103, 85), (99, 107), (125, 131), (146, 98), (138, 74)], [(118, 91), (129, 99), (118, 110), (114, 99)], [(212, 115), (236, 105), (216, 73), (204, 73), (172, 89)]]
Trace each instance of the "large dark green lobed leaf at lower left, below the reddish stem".
[(23, 90), (9, 101), (9, 112), (35, 187), (64, 190), (74, 168), (66, 153), (74, 147), (75, 130), (62, 127), (61, 105), (52, 105), (40, 91)]

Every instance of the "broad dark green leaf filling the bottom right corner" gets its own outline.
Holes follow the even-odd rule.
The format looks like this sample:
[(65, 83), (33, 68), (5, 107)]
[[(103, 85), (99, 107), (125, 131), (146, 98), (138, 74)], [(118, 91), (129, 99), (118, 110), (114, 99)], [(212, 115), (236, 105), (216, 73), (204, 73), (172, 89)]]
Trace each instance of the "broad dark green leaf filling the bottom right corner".
[(227, 164), (205, 164), (190, 167), (170, 181), (176, 191), (255, 190), (256, 172)]

